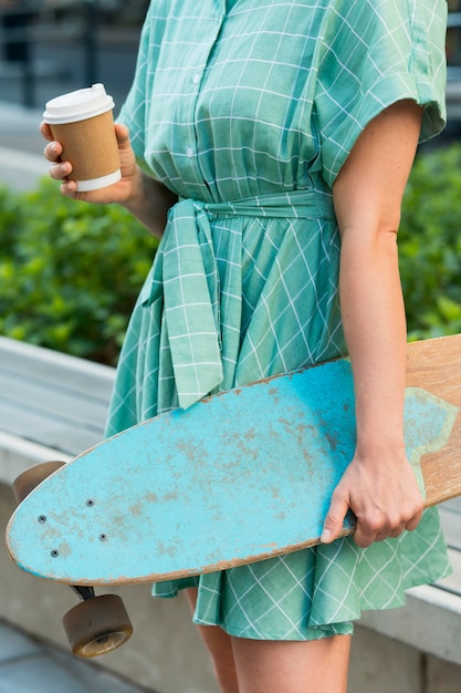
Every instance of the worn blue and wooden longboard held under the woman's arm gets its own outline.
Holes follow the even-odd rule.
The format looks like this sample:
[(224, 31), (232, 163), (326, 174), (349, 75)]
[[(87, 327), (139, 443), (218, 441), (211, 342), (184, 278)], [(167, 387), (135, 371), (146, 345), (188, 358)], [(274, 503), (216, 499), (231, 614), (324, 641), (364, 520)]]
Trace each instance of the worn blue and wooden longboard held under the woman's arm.
[[(461, 335), (409, 345), (406, 447), (428, 506), (461, 495), (460, 374)], [(31, 493), (28, 470), (8, 548), (21, 569), (74, 587), (83, 602), (64, 627), (75, 654), (95, 656), (122, 644), (130, 625), (118, 598), (95, 598), (93, 587), (199, 575), (318, 544), (354, 447), (348, 360), (260, 381), (134, 426), (50, 476), (42, 470)], [(347, 516), (343, 536), (353, 531)]]

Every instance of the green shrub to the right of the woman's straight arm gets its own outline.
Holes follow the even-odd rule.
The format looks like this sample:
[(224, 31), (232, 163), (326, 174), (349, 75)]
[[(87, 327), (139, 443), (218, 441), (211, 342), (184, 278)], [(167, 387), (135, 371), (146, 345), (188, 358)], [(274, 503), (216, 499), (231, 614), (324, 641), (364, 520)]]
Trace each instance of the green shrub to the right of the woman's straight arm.
[(400, 271), (409, 338), (461, 332), (461, 145), (417, 157), (404, 199)]

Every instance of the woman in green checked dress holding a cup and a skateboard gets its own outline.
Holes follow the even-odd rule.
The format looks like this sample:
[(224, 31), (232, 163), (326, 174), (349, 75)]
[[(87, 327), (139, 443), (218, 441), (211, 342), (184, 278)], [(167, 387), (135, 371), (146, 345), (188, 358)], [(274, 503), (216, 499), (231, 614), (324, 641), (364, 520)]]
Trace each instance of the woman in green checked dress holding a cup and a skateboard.
[[(446, 13), (444, 0), (153, 0), (116, 125), (123, 179), (76, 194), (61, 145), (45, 149), (64, 195), (122, 204), (163, 236), (108, 433), (352, 359), (357, 447), (324, 544), (154, 587), (187, 590), (223, 693), (344, 692), (362, 609), (449, 570), (405, 454), (396, 244), (418, 141), (443, 126)], [(337, 539), (348, 508), (355, 537)]]

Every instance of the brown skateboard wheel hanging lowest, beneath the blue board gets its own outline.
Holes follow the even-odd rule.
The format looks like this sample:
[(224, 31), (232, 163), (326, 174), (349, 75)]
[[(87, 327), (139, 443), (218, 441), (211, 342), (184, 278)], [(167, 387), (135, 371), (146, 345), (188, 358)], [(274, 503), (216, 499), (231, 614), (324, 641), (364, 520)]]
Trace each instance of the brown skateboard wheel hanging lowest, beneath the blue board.
[(63, 625), (73, 654), (83, 659), (116, 650), (133, 633), (125, 606), (116, 594), (85, 599), (67, 611)]

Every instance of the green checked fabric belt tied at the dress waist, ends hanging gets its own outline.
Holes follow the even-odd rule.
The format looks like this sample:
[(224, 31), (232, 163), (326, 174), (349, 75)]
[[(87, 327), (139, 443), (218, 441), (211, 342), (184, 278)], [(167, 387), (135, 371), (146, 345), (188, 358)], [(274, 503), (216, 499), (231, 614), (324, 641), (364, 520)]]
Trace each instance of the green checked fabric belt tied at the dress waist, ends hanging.
[(161, 329), (167, 331), (181, 408), (219, 387), (223, 380), (220, 286), (210, 227), (212, 215), (335, 218), (331, 196), (312, 189), (232, 203), (182, 199), (171, 207), (140, 300), (144, 306), (149, 306), (163, 292)]

